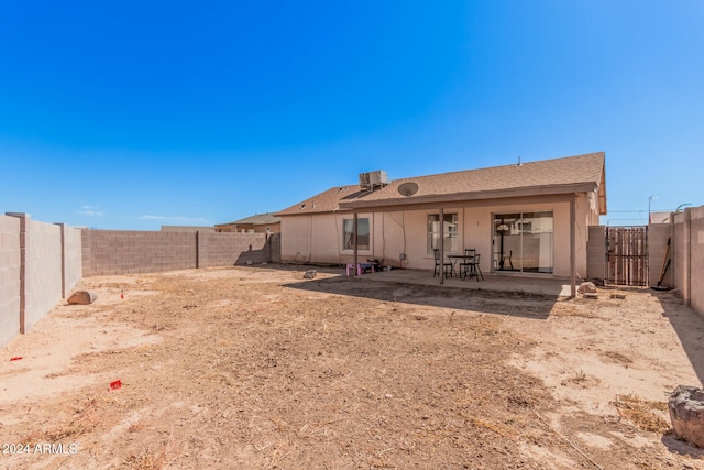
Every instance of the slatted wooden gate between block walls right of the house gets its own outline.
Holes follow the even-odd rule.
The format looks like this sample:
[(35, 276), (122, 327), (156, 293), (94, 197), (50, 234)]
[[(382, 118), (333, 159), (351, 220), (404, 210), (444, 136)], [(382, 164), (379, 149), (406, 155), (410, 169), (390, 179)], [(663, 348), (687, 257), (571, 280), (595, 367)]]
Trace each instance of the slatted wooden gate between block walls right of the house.
[(648, 285), (648, 227), (606, 227), (606, 283)]

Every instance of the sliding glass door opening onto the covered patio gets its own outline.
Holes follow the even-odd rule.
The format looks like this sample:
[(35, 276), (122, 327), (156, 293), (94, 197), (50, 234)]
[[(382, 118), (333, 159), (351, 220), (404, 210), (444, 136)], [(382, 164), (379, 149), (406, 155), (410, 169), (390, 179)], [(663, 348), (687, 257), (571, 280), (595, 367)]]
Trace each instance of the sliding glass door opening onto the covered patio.
[(494, 215), (494, 271), (552, 273), (552, 212)]

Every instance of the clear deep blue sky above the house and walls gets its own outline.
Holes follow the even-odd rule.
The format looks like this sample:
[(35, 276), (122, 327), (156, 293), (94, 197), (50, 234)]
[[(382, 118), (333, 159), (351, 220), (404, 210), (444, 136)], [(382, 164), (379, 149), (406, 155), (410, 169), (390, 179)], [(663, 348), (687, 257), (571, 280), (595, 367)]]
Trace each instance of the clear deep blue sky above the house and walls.
[(358, 174), (606, 152), (612, 225), (704, 205), (704, 2), (0, 0), (0, 212), (213, 225)]

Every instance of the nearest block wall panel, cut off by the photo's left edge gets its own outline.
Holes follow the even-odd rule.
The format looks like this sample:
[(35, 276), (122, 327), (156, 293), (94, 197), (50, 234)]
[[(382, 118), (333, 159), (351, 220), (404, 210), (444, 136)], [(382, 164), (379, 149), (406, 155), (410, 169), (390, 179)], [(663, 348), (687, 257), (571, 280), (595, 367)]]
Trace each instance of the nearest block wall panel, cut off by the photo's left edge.
[(20, 219), (0, 216), (0, 346), (20, 332)]

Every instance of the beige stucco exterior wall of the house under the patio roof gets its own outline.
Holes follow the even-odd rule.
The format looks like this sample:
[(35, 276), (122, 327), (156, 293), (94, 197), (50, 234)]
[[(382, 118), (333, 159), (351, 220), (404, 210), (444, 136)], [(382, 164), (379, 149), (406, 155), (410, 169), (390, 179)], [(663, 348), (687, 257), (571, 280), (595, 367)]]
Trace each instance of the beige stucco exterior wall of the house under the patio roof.
[[(595, 205), (586, 195), (581, 195), (575, 205), (576, 221), (576, 271), (586, 276), (586, 242), (588, 225), (598, 220), (594, 216)], [(474, 248), (482, 255), (483, 272), (493, 269), (493, 214), (517, 211), (553, 212), (553, 275), (570, 276), (570, 204), (546, 201), (535, 204), (494, 204), (486, 207), (446, 207), (446, 214), (458, 214), (459, 252)], [(406, 210), (394, 212), (360, 212), (360, 218), (370, 218), (372, 249), (360, 251), (360, 260), (380, 259), (385, 265), (395, 267), (432, 270), (433, 258), (427, 252), (427, 220), (438, 210)], [(300, 263), (351, 263), (352, 251), (342, 251), (342, 220), (352, 218), (349, 211), (285, 216), (282, 221), (282, 260)], [(406, 260), (400, 261), (399, 254)]]

